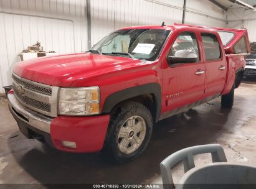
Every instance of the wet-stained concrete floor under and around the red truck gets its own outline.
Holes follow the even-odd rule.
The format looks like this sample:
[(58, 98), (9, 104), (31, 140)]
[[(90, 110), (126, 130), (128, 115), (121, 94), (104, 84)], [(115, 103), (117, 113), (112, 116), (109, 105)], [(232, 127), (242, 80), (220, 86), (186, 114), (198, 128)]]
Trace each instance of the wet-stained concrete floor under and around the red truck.
[[(100, 154), (69, 154), (26, 139), (0, 101), (0, 183), (161, 183), (159, 163), (169, 154), (200, 144), (220, 144), (228, 162), (256, 164), (256, 78), (235, 90), (234, 108), (211, 103), (158, 122), (146, 152), (133, 162), (111, 164)], [(196, 166), (211, 162), (198, 155)], [(183, 168), (174, 168), (175, 181)]]

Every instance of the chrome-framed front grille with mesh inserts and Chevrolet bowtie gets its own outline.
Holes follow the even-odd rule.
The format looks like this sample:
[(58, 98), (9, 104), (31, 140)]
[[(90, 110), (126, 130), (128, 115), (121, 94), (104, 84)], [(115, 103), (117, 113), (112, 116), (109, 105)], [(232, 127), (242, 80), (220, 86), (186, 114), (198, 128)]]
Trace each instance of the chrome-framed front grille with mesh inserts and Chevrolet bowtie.
[(59, 87), (44, 85), (12, 74), (12, 87), (16, 98), (28, 108), (47, 116), (57, 116)]

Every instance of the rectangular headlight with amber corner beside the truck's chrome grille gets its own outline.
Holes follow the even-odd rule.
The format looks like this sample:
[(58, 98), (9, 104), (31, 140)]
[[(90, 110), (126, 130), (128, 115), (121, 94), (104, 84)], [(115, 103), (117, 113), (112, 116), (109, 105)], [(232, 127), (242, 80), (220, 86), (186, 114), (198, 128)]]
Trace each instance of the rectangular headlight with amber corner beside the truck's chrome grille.
[(100, 88), (60, 88), (59, 114), (93, 115), (100, 113)]

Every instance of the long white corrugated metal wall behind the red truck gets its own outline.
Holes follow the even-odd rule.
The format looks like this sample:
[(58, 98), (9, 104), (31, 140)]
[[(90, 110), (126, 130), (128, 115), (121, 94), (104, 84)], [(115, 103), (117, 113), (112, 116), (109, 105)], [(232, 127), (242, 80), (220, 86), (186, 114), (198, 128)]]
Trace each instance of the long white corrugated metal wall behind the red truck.
[[(27, 46), (42, 42), (59, 53), (87, 50), (85, 0), (0, 0), (0, 92)], [(91, 0), (92, 44), (129, 25), (181, 22), (183, 1)], [(224, 12), (209, 1), (187, 0), (186, 23), (224, 27)]]

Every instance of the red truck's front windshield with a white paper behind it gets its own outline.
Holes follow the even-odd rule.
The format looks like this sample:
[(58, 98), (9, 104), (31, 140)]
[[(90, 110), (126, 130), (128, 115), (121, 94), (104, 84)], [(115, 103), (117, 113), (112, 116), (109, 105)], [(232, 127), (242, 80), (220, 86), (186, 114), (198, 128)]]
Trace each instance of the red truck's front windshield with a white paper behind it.
[(169, 32), (163, 29), (116, 30), (90, 51), (152, 61), (158, 57)]

